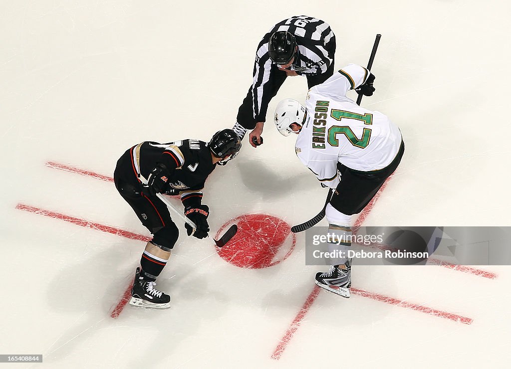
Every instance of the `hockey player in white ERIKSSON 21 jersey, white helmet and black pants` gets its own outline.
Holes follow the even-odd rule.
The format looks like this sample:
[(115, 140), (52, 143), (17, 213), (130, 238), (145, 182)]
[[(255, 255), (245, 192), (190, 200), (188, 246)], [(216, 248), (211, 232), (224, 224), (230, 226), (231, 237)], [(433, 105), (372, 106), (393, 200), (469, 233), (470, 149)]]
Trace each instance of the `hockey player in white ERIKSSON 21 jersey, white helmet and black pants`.
[[(401, 132), (387, 116), (362, 108), (346, 96), (352, 89), (372, 95), (374, 79), (369, 70), (347, 65), (312, 87), (305, 107), (285, 99), (274, 114), (280, 133), (298, 134), (295, 150), (300, 161), (323, 187), (335, 189), (326, 207), (329, 233), (346, 240), (346, 247), (351, 246), (353, 214), (373, 199), (404, 153)], [(338, 259), (329, 272), (316, 274), (316, 284), (349, 298), (351, 262)]]

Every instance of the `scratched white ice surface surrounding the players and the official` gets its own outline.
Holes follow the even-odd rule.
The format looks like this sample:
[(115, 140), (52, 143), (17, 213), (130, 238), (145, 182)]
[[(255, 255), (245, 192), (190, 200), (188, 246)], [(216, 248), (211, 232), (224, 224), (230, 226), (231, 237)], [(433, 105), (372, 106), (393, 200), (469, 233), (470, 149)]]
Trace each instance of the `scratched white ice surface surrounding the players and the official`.
[[(112, 318), (145, 241), (101, 230), (149, 233), (91, 173), (111, 177), (138, 142), (232, 127), (260, 39), (303, 14), (331, 25), (336, 69), (365, 65), (382, 34), (362, 106), (400, 127), (406, 152), (363, 225), (509, 226), (510, 13), (494, 0), (0, 1), (0, 354), (43, 354), (16, 366), (35, 368), (508, 367), (509, 267), (477, 267), (495, 274), (485, 278), (354, 265), (360, 292), (345, 300), (314, 288), (324, 268), (305, 265), (303, 234), (284, 261), (241, 268), (178, 222), (158, 279), (171, 309)], [(245, 214), (294, 225), (321, 209), (326, 191), (271, 120), (278, 101), (306, 93), (305, 78), (288, 78), (264, 145), (245, 138), (208, 179), (213, 230)]]

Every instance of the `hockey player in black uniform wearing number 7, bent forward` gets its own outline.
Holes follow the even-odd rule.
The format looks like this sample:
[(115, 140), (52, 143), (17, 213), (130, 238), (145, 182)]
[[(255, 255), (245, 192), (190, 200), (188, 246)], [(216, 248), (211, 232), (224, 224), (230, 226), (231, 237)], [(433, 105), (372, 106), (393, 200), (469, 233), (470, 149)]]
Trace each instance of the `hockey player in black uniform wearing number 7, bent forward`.
[[(187, 234), (207, 237), (209, 208), (202, 204), (202, 188), (216, 165), (233, 159), (241, 148), (233, 130), (217, 132), (209, 143), (187, 139), (160, 144), (145, 141), (128, 149), (118, 160), (113, 179), (115, 187), (133, 208), (138, 219), (153, 234), (136, 269), (130, 304), (152, 308), (170, 307), (170, 296), (155, 288), (179, 231), (167, 206), (156, 193), (179, 194), (184, 215), (192, 220), (194, 230), (185, 223)], [(143, 184), (139, 176), (147, 178)]]

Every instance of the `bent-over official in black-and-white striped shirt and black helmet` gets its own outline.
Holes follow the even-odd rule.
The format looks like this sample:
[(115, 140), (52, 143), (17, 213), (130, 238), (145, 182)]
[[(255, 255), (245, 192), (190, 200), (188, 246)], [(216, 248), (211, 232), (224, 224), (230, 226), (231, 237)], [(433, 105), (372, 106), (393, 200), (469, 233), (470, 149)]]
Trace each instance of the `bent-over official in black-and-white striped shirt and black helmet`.
[(309, 88), (334, 73), (335, 35), (330, 26), (314, 17), (293, 16), (277, 23), (259, 43), (253, 82), (238, 110), (234, 131), (249, 143), (263, 143), (268, 104), (288, 76), (306, 76)]

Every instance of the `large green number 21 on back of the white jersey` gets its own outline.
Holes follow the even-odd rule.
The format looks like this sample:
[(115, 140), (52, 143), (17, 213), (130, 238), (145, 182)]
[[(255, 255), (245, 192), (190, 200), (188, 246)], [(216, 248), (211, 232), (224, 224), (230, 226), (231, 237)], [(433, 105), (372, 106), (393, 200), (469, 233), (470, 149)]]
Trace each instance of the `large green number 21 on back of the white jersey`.
[[(330, 113), (330, 116), (339, 121), (342, 118), (347, 118), (362, 120), (364, 125), (368, 126), (373, 124), (373, 114), (369, 113), (362, 115), (349, 111), (333, 109)], [(337, 134), (345, 135), (353, 146), (360, 147), (361, 149), (364, 149), (369, 144), (369, 139), (371, 138), (371, 130), (369, 128), (364, 128), (362, 137), (358, 138), (355, 136), (355, 133), (353, 133), (349, 126), (332, 126), (328, 130), (328, 143), (330, 143), (332, 146), (339, 146), (339, 139), (337, 138)]]

